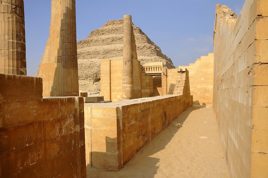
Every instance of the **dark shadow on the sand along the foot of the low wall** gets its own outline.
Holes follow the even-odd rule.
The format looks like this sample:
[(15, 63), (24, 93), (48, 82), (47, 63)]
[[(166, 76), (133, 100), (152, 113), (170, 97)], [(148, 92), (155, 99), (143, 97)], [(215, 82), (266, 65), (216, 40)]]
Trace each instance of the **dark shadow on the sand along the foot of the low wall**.
[(118, 172), (108, 172), (95, 168), (91, 169), (91, 166), (87, 165), (87, 177), (155, 177), (159, 168), (157, 164), (160, 159), (155, 158), (152, 155), (165, 149), (166, 145), (172, 140), (176, 132), (178, 132), (180, 128), (174, 127), (173, 125), (175, 123), (180, 123), (183, 126), (188, 115), (192, 111), (200, 109), (200, 107), (205, 106), (188, 107), (175, 118), (171, 124), (140, 149), (131, 160), (124, 165), (124, 168), (120, 169)]

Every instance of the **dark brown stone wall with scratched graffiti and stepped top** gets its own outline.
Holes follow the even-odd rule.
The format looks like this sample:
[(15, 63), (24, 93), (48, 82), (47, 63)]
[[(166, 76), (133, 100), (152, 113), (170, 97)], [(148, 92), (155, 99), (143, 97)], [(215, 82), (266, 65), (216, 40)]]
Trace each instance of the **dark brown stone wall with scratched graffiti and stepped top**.
[(0, 86), (0, 177), (86, 177), (83, 98), (42, 98), (36, 77)]

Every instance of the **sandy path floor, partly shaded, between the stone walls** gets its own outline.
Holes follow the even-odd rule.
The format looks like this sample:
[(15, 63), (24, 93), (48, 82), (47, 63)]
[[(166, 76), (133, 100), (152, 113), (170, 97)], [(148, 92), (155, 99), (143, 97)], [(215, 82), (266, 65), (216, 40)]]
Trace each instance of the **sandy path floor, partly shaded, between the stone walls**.
[(87, 177), (230, 177), (213, 109), (188, 108), (119, 172), (88, 169)]

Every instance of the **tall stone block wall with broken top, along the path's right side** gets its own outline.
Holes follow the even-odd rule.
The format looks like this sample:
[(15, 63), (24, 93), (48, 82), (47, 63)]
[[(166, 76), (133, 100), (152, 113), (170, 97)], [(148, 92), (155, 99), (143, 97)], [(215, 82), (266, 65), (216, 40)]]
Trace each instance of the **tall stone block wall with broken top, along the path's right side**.
[(213, 108), (232, 177), (268, 177), (268, 1), (216, 5)]

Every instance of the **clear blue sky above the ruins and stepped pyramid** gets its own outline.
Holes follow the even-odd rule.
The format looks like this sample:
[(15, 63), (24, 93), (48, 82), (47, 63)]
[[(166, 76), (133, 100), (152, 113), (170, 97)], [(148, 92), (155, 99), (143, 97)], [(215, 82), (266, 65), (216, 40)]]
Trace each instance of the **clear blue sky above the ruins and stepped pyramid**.
[[(132, 21), (171, 58), (175, 66), (213, 52), (215, 6), (239, 15), (244, 0), (76, 0), (77, 40), (109, 20)], [(34, 76), (49, 37), (50, 0), (24, 0), (27, 75)]]

